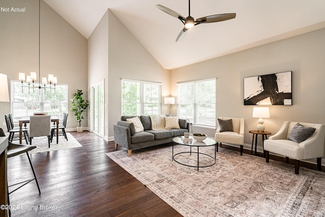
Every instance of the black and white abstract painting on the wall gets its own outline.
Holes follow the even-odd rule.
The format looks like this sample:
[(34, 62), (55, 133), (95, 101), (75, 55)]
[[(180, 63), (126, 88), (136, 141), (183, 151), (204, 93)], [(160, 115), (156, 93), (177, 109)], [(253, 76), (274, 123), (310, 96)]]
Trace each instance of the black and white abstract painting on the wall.
[(244, 105), (292, 105), (292, 72), (244, 78)]

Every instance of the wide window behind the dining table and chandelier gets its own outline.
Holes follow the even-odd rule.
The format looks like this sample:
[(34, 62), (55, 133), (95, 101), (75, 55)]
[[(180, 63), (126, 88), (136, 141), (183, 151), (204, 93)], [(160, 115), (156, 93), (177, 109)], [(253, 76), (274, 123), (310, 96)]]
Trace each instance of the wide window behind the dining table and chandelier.
[[(68, 112), (68, 85), (57, 84), (52, 88), (29, 88), (20, 81), (11, 81), (11, 113), (13, 118), (47, 112), (63, 119)], [(37, 84), (38, 85), (38, 84)]]

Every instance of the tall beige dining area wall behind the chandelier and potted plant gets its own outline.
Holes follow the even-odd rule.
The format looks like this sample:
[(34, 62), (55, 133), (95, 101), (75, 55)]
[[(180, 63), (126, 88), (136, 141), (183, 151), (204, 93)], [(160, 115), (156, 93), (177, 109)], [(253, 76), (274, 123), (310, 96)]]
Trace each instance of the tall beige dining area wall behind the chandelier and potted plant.
[[(26, 12), (0, 12), (0, 73), (18, 80), (18, 73), (39, 72), (39, 2), (2, 0), (1, 7), (25, 7)], [(68, 106), (77, 89), (87, 97), (87, 40), (67, 21), (41, 1), (41, 77), (57, 76), (68, 84)], [(9, 103), (0, 103), (0, 121), (10, 113)], [(87, 113), (85, 114), (87, 116)], [(78, 123), (69, 111), (68, 128)], [(82, 121), (87, 127), (87, 119)]]

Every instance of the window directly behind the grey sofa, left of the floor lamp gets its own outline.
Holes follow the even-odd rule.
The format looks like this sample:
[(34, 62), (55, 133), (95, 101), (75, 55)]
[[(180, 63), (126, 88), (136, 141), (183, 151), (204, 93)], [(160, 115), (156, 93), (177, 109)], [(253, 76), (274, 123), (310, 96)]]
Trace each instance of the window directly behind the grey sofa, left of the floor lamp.
[(122, 115), (160, 113), (160, 83), (122, 79)]

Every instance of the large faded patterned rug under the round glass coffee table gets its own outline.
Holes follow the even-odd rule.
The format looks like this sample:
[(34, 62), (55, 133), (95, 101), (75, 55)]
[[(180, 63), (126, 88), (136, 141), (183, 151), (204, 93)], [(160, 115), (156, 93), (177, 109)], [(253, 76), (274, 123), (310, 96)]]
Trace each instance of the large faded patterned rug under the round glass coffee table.
[[(189, 147), (175, 145), (174, 153)], [(196, 148), (193, 148), (196, 151)], [(214, 154), (214, 147), (200, 148)], [(172, 147), (107, 153), (183, 216), (324, 216), (325, 173), (219, 148), (211, 167), (187, 167), (172, 161)], [(196, 154), (177, 161), (196, 164)], [(211, 159), (201, 158), (209, 164)], [(211, 162), (210, 162), (211, 163)]]

